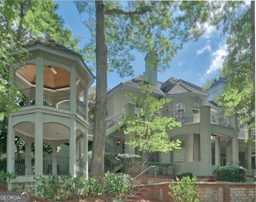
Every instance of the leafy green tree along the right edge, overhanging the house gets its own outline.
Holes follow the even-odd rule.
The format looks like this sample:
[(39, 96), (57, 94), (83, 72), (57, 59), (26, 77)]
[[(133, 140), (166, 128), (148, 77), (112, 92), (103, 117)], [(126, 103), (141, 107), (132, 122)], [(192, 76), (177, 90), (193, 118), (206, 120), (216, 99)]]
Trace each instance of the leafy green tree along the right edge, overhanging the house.
[[(216, 10), (214, 24), (228, 34), (228, 54), (224, 57), (221, 77), (227, 81), (216, 102), (227, 115), (238, 113), (244, 123), (255, 120), (255, 53), (254, 53), (254, 2), (217, 2), (223, 6)], [(252, 82), (253, 81), (253, 82)]]

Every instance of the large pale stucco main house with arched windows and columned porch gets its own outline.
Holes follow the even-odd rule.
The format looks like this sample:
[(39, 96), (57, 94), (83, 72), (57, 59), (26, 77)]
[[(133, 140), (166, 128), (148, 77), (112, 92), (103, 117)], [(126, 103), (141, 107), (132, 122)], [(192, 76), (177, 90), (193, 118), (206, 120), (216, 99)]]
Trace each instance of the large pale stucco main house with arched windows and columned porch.
[[(147, 62), (144, 75), (124, 81), (108, 91), (106, 148), (119, 153), (139, 154), (136, 149), (124, 144), (135, 134), (124, 135), (122, 130), (117, 129), (122, 127), (118, 125), (118, 118), (122, 115), (138, 114), (140, 109), (128, 102), (126, 94), (138, 95), (138, 83), (144, 81), (145, 77), (154, 81), (152, 96), (172, 99), (156, 113), (160, 117), (176, 117), (182, 123), (181, 128), (167, 129), (170, 140), (179, 139), (182, 142), (181, 150), (156, 152), (150, 156), (150, 161), (180, 164), (180, 173), (192, 172), (197, 176), (212, 175), (214, 168), (227, 164), (244, 166), (248, 173), (255, 174), (255, 143), (245, 143), (251, 132), (241, 128), (237, 115), (224, 116), (220, 107), (209, 100), (197, 85), (173, 77), (165, 82), (158, 81), (157, 71), (149, 67)], [(224, 83), (224, 79), (213, 83), (212, 97), (222, 92)], [(92, 140), (92, 130), (89, 134)], [(108, 152), (108, 149), (105, 151)]]

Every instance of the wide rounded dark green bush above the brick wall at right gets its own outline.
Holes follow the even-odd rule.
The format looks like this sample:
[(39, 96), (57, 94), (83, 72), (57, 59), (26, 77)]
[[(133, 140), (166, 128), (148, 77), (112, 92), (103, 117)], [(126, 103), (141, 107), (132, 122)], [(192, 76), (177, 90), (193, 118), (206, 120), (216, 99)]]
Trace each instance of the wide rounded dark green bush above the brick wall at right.
[(213, 170), (215, 180), (226, 182), (246, 182), (246, 169), (241, 166), (220, 166)]

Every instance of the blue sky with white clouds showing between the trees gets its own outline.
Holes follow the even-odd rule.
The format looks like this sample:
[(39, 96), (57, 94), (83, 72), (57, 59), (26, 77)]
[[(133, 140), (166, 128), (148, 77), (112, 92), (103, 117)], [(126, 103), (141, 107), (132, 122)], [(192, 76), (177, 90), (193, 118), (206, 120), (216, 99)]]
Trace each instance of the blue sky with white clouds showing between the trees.
[[(86, 15), (80, 15), (73, 1), (55, 0), (59, 4), (56, 13), (62, 16), (65, 21), (64, 27), (73, 31), (74, 36), (81, 36), (79, 48), (82, 48), (88, 41), (90, 33), (83, 25)], [(222, 67), (223, 58), (227, 54), (226, 36), (220, 36), (221, 30), (216, 30), (214, 26), (204, 25), (206, 32), (198, 41), (185, 43), (182, 50), (179, 50), (170, 69), (163, 73), (158, 72), (158, 81), (165, 82), (170, 77), (182, 79), (202, 87), (207, 80), (219, 77), (219, 69)], [(146, 55), (135, 52), (135, 61), (132, 62), (134, 76), (143, 74), (145, 71)], [(93, 72), (96, 75), (96, 72)], [(121, 78), (117, 73), (108, 74), (108, 87), (113, 88), (122, 81), (132, 77)], [(93, 85), (96, 85), (94, 82)]]

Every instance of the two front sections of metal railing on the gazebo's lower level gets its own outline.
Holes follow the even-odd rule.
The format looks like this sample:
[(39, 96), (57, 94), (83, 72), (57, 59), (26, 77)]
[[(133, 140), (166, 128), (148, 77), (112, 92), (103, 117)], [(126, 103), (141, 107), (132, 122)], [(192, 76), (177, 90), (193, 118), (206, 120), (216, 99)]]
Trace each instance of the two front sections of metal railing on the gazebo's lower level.
[[(69, 173), (69, 158), (58, 156), (43, 157), (43, 174)], [(35, 156), (14, 157), (14, 174), (16, 175), (34, 175), (35, 174)]]

